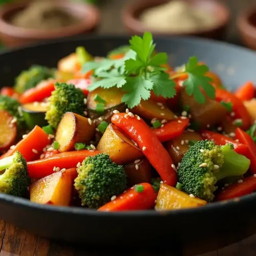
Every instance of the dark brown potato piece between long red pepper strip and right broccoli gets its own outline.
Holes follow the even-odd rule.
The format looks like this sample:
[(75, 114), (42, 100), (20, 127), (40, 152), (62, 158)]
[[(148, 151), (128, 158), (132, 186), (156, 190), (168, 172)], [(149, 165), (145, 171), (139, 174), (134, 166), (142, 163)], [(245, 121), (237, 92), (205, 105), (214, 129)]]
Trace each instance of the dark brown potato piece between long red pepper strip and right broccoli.
[(188, 151), (188, 141), (202, 140), (202, 136), (195, 132), (185, 132), (178, 138), (174, 140), (169, 140), (166, 142), (166, 150), (168, 151), (170, 157), (173, 159), (174, 164), (177, 166), (183, 158), (184, 154)]

